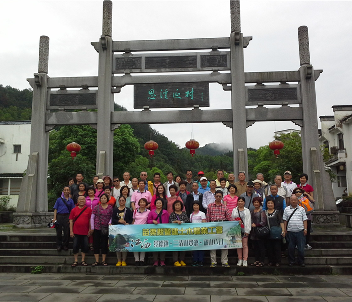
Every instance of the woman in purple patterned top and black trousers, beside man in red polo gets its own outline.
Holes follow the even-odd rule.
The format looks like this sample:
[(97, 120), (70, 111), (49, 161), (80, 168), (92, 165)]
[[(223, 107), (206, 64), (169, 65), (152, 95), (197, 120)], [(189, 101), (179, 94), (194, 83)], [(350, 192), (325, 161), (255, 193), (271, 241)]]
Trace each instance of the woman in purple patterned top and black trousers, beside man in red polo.
[(109, 228), (109, 224), (111, 224), (111, 217), (113, 215), (113, 207), (108, 204), (108, 199), (109, 196), (105, 193), (100, 196), (100, 204), (96, 205), (91, 216), (94, 247), (93, 253), (96, 259), (96, 262), (92, 264), (92, 266), (97, 266), (100, 264), (100, 249), (102, 249), (102, 264), (104, 266), (108, 266), (105, 260), (106, 255), (108, 254), (109, 232), (105, 233), (105, 230)]

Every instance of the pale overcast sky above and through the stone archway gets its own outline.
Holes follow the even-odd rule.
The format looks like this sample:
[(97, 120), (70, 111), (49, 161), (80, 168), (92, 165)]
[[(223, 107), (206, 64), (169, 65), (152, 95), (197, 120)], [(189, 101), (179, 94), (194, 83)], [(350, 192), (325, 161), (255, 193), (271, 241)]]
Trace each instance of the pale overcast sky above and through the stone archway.
[[(29, 88), (27, 78), (38, 70), (39, 37), (50, 38), (49, 76), (98, 75), (98, 53), (91, 42), (102, 33), (103, 1), (0, 0), (0, 84)], [(350, 1), (241, 1), (241, 29), (253, 40), (244, 49), (245, 71), (297, 70), (297, 28), (308, 26), (311, 63), (324, 72), (316, 82), (318, 116), (332, 115), (332, 105), (351, 104), (352, 60)], [(113, 1), (113, 39), (150, 40), (228, 37), (230, 1)], [(348, 59), (349, 58), (349, 59)], [(133, 87), (115, 95), (115, 102), (133, 109)], [(230, 92), (210, 85), (210, 109), (231, 108)], [(206, 109), (204, 109), (206, 110)], [(153, 125), (184, 146), (194, 138), (201, 146), (231, 143), (223, 124)], [(247, 128), (249, 147), (273, 139), (274, 131), (298, 128), (291, 122), (255, 123)]]

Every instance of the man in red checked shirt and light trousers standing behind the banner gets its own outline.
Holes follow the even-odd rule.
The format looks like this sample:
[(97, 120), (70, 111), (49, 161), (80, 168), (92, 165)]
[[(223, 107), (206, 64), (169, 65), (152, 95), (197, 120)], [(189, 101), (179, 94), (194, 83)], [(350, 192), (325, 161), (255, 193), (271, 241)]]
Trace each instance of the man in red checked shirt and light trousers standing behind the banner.
[[(210, 182), (210, 185), (212, 182)], [(208, 191), (210, 192), (210, 191)], [(216, 222), (216, 221), (232, 221), (232, 217), (229, 209), (226, 205), (224, 205), (221, 200), (223, 197), (223, 193), (221, 190), (215, 191), (215, 202), (209, 204), (207, 210), (207, 218), (206, 222)], [(227, 249), (221, 250), (221, 265), (223, 267), (230, 267), (227, 259), (228, 251)], [(210, 251), (210, 267), (216, 267), (216, 250)]]

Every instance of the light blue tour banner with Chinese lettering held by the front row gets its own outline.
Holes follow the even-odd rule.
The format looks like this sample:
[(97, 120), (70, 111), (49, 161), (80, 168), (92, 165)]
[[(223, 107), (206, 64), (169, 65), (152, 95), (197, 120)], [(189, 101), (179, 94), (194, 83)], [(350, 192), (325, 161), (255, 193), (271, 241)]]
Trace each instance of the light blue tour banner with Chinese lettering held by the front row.
[(163, 252), (242, 248), (238, 221), (109, 226), (110, 252)]

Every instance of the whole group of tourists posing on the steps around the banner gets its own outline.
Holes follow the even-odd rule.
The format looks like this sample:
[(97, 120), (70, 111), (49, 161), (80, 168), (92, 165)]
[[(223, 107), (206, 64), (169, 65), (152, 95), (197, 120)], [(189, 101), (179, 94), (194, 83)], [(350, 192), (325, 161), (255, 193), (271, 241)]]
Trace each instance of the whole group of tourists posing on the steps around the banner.
[[(314, 210), (313, 188), (308, 175), (299, 176), (300, 184), (292, 182), (290, 171), (277, 175), (272, 184), (264, 181), (258, 173), (253, 181), (245, 181), (245, 173), (239, 172), (238, 181), (230, 173), (217, 171), (215, 180), (208, 180), (204, 172), (193, 180), (191, 170), (186, 179), (166, 174), (167, 181), (160, 182), (160, 174), (154, 173), (154, 182), (147, 180), (147, 173), (132, 178), (129, 172), (119, 177), (95, 176), (91, 186), (84, 183), (78, 173), (68, 180), (62, 195), (54, 205), (56, 221), (57, 251), (68, 250), (69, 237), (73, 238), (74, 262), (78, 265), (81, 250), (81, 265), (87, 266), (85, 254), (91, 249), (95, 256), (92, 266), (107, 266), (109, 225), (116, 224), (159, 224), (200, 223), (237, 220), (240, 224), (242, 248), (237, 249), (237, 266), (248, 265), (248, 240), (255, 253), (250, 265), (281, 265), (284, 251), (288, 250), (289, 266), (295, 265), (295, 249), (298, 250), (297, 264), (304, 264), (304, 250), (311, 249), (309, 237), (311, 212)], [(63, 231), (63, 236), (62, 236)], [(286, 241), (288, 243), (286, 243)], [(102, 262), (99, 260), (100, 251)], [(126, 252), (116, 252), (116, 266), (126, 266)], [(153, 265), (165, 266), (165, 252), (153, 252)], [(174, 266), (186, 266), (185, 251), (172, 252)], [(228, 250), (221, 250), (221, 264), (229, 267)], [(203, 266), (204, 251), (192, 251), (192, 266)], [(134, 252), (135, 265), (145, 265), (145, 252)], [(210, 251), (211, 267), (216, 267), (216, 250)]]

